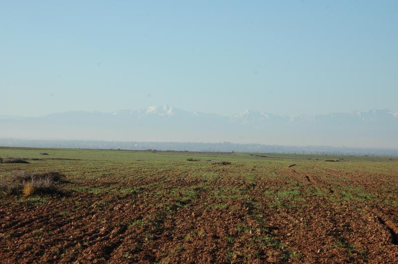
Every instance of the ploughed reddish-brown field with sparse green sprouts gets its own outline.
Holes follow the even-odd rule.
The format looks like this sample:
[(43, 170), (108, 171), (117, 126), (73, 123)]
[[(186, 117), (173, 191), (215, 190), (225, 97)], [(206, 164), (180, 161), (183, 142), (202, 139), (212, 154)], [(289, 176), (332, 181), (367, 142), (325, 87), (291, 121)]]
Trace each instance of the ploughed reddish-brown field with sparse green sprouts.
[(0, 164), (0, 179), (65, 175), (54, 193), (0, 193), (1, 262), (398, 262), (397, 158), (12, 148), (0, 157), (30, 162)]

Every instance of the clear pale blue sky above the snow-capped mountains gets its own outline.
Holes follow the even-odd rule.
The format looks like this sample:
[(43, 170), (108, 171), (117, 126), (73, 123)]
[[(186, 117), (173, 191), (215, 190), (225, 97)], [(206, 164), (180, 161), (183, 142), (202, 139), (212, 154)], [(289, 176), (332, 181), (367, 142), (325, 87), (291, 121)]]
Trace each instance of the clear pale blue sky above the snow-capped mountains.
[(398, 112), (398, 1), (1, 1), (0, 114)]

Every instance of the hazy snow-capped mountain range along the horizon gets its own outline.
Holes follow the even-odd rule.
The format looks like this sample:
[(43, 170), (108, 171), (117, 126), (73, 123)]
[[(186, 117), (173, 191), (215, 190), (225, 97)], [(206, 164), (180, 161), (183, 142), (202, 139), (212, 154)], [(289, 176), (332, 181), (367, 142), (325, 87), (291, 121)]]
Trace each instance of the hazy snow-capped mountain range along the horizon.
[(0, 137), (398, 148), (398, 113), (374, 109), (286, 116), (245, 110), (233, 116), (221, 116), (163, 105), (113, 113), (0, 115)]

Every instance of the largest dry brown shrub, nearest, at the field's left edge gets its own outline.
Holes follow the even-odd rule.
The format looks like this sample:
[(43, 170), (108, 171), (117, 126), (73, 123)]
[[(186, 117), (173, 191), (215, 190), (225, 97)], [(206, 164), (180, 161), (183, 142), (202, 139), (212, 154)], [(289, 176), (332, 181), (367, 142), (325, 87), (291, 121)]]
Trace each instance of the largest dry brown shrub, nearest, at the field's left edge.
[(55, 182), (63, 179), (64, 175), (59, 172), (17, 172), (0, 179), (0, 191), (6, 194), (23, 192), (25, 196), (33, 193), (54, 193), (57, 192)]

